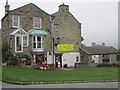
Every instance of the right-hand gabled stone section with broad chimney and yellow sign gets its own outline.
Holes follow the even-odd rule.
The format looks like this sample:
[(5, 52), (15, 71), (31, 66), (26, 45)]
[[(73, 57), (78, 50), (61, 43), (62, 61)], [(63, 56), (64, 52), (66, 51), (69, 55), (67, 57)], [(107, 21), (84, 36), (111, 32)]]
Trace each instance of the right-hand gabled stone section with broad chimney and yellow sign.
[[(54, 16), (54, 33), (53, 36), (56, 39), (59, 39), (58, 46), (63, 45), (70, 47), (69, 45), (73, 45), (73, 50), (58, 50), (58, 46), (55, 47), (55, 55), (56, 57), (64, 58), (66, 62), (71, 62), (71, 59), (64, 55), (69, 55), (70, 53), (80, 54), (80, 47), (81, 47), (81, 23), (70, 13), (69, 6), (65, 5), (64, 3), (58, 7), (58, 11), (53, 13)], [(67, 46), (68, 44), (68, 46)], [(69, 55), (70, 56), (70, 55)], [(76, 56), (78, 62), (80, 62), (80, 56)], [(72, 58), (72, 57), (71, 57)], [(59, 58), (59, 62), (62, 63), (63, 60)], [(77, 60), (76, 59), (76, 60)], [(73, 60), (75, 63), (76, 60)], [(76, 62), (77, 63), (77, 62)]]

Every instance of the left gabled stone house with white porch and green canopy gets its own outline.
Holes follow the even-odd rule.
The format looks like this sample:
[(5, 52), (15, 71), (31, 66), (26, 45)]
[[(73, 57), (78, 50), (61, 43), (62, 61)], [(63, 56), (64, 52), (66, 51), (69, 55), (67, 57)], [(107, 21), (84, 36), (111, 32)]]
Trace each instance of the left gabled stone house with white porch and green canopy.
[(6, 2), (2, 18), (3, 57), (8, 51), (43, 57), (51, 50), (51, 16), (32, 3), (14, 10), (8, 7)]

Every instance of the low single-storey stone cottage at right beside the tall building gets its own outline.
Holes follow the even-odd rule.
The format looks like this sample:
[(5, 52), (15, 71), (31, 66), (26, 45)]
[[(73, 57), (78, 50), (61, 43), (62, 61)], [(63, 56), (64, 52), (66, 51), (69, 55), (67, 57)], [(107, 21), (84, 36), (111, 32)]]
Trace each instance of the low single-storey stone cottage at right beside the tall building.
[(112, 46), (96, 45), (92, 43), (92, 46), (83, 46), (81, 49), (81, 62), (88, 66), (95, 66), (100, 63), (116, 63), (118, 50)]

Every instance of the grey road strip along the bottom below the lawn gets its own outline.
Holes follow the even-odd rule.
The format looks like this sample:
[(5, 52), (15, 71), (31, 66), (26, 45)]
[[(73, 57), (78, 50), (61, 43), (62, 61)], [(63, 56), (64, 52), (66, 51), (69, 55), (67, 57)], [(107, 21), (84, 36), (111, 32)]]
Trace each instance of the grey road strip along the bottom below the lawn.
[(118, 82), (41, 84), (41, 85), (12, 85), (3, 83), (2, 88), (118, 88)]

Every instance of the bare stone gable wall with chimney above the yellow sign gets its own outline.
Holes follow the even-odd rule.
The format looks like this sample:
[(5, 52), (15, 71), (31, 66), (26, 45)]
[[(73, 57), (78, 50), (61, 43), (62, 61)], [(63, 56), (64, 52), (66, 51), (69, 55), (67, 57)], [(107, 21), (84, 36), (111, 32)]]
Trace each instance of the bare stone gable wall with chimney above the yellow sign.
[(55, 16), (55, 25), (58, 25), (58, 30), (54, 30), (55, 39), (60, 37), (60, 44), (74, 44), (74, 51), (79, 52), (81, 47), (81, 24), (69, 12), (68, 5), (60, 5), (59, 11), (53, 15)]

